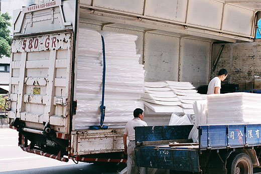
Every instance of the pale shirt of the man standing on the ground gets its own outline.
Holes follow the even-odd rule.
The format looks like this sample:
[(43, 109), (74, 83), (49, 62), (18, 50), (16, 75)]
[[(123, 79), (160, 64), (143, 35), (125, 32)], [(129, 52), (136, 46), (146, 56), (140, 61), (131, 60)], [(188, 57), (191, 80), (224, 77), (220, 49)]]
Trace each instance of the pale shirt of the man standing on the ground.
[(141, 120), (141, 118), (134, 118), (128, 121), (124, 131), (124, 134), (128, 135), (128, 140), (135, 140), (135, 126), (147, 126), (147, 123)]

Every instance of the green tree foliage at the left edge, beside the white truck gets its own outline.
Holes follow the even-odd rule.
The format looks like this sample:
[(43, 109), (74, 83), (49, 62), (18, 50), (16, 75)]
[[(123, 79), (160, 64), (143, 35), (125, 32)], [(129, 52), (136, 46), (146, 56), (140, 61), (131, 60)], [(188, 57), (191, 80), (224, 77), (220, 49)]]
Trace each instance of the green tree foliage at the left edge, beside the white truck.
[(0, 15), (0, 58), (4, 55), (10, 57), (12, 38), (10, 37), (11, 16), (8, 13)]

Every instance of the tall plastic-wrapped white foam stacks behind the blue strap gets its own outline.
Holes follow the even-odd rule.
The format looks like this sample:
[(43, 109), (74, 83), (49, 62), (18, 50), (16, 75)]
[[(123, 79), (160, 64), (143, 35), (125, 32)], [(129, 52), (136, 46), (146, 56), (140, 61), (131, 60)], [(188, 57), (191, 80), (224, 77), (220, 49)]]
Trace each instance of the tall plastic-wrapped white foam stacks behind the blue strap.
[[(79, 29), (74, 129), (88, 129), (100, 124), (103, 75), (101, 35)], [(144, 69), (136, 53), (137, 36), (102, 32), (105, 43), (106, 77), (104, 124), (109, 128), (125, 127), (133, 119), (135, 108), (144, 108)]]

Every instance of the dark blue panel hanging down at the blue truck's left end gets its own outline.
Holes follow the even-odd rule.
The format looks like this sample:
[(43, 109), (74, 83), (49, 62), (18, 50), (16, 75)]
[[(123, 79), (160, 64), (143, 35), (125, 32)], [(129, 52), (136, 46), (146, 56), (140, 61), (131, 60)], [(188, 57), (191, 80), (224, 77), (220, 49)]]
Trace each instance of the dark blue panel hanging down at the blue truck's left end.
[(200, 172), (197, 150), (136, 147), (137, 166)]

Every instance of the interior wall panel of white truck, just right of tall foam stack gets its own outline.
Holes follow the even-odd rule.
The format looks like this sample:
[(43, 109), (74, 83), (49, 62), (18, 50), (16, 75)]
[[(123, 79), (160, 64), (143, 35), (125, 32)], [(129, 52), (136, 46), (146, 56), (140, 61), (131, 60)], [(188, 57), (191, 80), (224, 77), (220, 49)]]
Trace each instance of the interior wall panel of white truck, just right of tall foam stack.
[(179, 38), (148, 33), (145, 41), (145, 81), (177, 81)]

